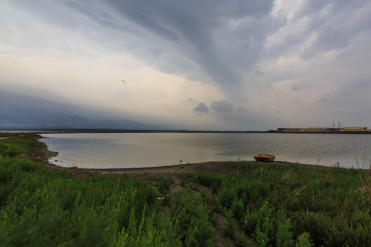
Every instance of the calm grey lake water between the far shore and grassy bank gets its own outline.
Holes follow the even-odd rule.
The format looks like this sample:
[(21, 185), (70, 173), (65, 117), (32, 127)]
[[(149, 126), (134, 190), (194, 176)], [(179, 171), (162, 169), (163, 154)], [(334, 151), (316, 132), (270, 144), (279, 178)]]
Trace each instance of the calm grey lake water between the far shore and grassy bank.
[[(51, 162), (63, 167), (131, 168), (205, 161), (276, 161), (362, 167), (371, 160), (371, 134), (78, 133), (42, 134)], [(370, 156), (370, 158), (368, 158)], [(56, 161), (57, 160), (57, 161)]]

